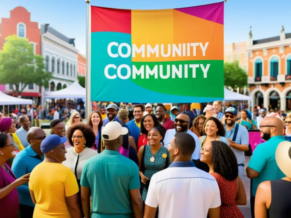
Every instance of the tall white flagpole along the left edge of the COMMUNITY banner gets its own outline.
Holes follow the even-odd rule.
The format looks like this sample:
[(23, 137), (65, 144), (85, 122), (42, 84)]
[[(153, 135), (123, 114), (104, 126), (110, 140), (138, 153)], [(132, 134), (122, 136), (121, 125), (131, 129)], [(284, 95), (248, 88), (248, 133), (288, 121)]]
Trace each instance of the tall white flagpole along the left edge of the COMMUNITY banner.
[(91, 102), (91, 8), (90, 0), (86, 2), (86, 114), (85, 118), (88, 119), (89, 114), (92, 112)]

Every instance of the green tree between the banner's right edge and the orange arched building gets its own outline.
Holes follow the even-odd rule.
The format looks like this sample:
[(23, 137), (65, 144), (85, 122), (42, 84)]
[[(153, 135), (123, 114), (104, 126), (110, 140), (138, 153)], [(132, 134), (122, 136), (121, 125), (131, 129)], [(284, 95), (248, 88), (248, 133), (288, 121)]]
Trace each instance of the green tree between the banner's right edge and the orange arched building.
[(237, 61), (224, 63), (224, 86), (232, 89), (243, 88), (248, 83), (247, 73), (239, 67)]

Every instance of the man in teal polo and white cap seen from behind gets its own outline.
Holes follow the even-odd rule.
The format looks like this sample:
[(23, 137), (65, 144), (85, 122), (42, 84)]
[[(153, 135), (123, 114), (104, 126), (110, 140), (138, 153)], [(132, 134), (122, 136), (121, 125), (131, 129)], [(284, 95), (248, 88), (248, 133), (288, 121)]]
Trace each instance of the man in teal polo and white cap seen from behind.
[(85, 218), (142, 217), (139, 168), (118, 152), (127, 133), (128, 129), (117, 121), (109, 122), (102, 131), (105, 150), (83, 167), (81, 198)]

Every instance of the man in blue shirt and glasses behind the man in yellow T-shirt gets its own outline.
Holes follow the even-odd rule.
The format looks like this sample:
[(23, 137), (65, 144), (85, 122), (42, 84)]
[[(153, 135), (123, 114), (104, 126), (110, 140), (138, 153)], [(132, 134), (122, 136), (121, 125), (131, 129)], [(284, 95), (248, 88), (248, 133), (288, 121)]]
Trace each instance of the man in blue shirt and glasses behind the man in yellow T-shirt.
[[(46, 137), (45, 131), (39, 127), (32, 127), (27, 133), (27, 141), (30, 143), (26, 149), (16, 154), (12, 171), (16, 178), (31, 173), (33, 168), (44, 159), (43, 153), (40, 151), (40, 144)], [(19, 218), (32, 218), (34, 203), (31, 200), (28, 183), (17, 187), (19, 195)]]

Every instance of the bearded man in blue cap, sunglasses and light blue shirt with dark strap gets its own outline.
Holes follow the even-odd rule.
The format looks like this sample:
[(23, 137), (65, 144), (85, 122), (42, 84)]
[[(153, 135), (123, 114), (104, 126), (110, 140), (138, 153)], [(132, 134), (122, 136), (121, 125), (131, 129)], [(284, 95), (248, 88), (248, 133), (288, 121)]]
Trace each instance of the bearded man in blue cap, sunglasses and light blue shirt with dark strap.
[(227, 108), (224, 116), (225, 137), (237, 158), (239, 177), (244, 178), (244, 152), (249, 150), (249, 132), (244, 126), (235, 121), (237, 118), (237, 110), (235, 108)]

